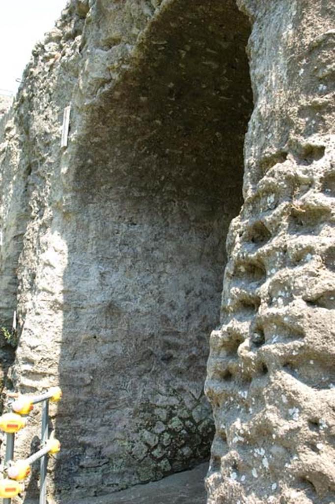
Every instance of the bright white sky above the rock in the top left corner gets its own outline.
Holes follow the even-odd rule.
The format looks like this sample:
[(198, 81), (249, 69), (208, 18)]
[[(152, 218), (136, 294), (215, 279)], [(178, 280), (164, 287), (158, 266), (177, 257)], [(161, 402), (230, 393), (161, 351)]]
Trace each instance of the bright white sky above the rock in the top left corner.
[(0, 2), (0, 94), (15, 93), (35, 43), (54, 26), (66, 0)]

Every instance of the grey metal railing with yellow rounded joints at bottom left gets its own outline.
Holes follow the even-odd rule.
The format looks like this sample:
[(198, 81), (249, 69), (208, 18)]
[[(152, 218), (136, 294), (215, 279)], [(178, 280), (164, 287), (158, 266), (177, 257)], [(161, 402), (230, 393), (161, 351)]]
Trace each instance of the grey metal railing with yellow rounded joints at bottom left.
[[(38, 396), (20, 396), (11, 394), (17, 399), (12, 403), (12, 412), (0, 417), (0, 429), (6, 432), (6, 455), (4, 471), (7, 478), (0, 480), (0, 498), (4, 504), (11, 504), (12, 497), (24, 491), (23, 480), (29, 476), (31, 465), (37, 460), (40, 463), (40, 499), (39, 504), (46, 504), (46, 473), (48, 454), (55, 454), (60, 450), (57, 439), (49, 438), (49, 401), (57, 402), (61, 399), (62, 392), (59, 387), (52, 387), (44, 394)], [(26, 415), (33, 409), (33, 404), (42, 403), (42, 429), (41, 448), (36, 453), (24, 460), (14, 461), (15, 434), (26, 425)]]

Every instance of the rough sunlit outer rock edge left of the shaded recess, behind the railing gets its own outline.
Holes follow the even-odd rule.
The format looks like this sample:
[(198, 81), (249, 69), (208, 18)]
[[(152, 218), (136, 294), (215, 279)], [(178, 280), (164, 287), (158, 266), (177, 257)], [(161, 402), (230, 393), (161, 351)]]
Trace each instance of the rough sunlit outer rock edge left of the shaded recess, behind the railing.
[[(54, 29), (35, 46), (13, 107), (0, 119), (0, 325), (7, 336), (11, 334), (10, 338), (3, 331), (0, 335), (2, 392), (32, 393), (58, 383), (55, 337), (61, 327), (57, 300), (64, 246), (59, 232), (51, 230), (51, 202), (61, 190), (63, 109), (78, 77), (84, 25), (79, 4), (65, 9)], [(17, 325), (12, 333), (15, 311)], [(9, 369), (14, 359), (15, 366)], [(38, 447), (38, 410), (26, 432), (18, 435), (17, 457)], [(27, 493), (36, 492), (34, 469)]]

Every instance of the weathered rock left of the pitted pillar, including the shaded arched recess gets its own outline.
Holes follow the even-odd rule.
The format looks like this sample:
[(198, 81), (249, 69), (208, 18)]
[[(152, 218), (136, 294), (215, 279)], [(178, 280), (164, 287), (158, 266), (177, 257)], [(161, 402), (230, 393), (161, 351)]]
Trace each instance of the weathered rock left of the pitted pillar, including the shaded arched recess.
[(26, 70), (3, 146), (8, 386), (64, 391), (65, 501), (209, 458), (203, 384), (242, 204), (248, 35), (232, 1), (73, 2)]

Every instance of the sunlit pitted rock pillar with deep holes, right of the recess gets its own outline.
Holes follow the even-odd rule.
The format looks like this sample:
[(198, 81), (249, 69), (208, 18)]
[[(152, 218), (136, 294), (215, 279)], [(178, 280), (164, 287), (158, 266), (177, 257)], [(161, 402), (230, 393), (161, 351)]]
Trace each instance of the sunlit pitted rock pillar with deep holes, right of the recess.
[(334, 500), (334, 6), (240, 2), (255, 109), (206, 382), (209, 503)]

